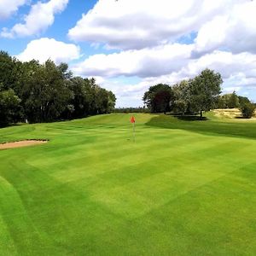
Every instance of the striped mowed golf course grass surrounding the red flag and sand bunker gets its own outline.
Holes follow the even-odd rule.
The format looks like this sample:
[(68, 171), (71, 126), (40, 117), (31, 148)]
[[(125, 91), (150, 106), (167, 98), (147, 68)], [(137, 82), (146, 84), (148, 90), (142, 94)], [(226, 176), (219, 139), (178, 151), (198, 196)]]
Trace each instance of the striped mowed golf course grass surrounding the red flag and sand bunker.
[(256, 254), (256, 123), (130, 117), (0, 130), (0, 255)]

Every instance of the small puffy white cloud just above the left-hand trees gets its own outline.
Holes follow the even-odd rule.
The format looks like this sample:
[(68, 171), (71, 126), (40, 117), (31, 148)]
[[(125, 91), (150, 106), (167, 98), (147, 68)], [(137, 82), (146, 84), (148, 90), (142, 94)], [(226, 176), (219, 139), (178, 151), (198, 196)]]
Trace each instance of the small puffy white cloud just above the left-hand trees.
[(55, 63), (67, 62), (78, 59), (80, 49), (75, 44), (65, 44), (50, 38), (40, 38), (27, 44), (26, 49), (16, 57), (20, 61), (38, 60), (43, 63), (47, 60)]

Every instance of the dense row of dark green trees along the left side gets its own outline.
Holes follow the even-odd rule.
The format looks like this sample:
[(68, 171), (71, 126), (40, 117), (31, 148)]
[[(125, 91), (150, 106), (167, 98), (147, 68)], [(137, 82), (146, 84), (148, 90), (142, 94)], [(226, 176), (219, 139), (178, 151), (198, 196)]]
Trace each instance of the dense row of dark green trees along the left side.
[(49, 122), (111, 113), (116, 97), (95, 79), (73, 77), (66, 63), (20, 62), (0, 51), (0, 124)]

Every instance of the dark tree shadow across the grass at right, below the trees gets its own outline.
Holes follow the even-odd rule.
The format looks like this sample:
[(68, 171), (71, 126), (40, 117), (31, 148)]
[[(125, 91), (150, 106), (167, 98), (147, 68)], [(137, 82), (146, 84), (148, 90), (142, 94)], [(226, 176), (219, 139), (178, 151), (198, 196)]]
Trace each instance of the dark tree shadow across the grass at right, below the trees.
[[(198, 117), (197, 117), (198, 118)], [(236, 122), (220, 122), (216, 120), (207, 119), (201, 121), (192, 119), (180, 119), (172, 115), (160, 114), (153, 117), (146, 123), (146, 125), (166, 128), (166, 129), (179, 129), (185, 131), (193, 131), (201, 134), (211, 134), (216, 136), (225, 137), (247, 137), (256, 139), (256, 122), (249, 123), (236, 123)]]

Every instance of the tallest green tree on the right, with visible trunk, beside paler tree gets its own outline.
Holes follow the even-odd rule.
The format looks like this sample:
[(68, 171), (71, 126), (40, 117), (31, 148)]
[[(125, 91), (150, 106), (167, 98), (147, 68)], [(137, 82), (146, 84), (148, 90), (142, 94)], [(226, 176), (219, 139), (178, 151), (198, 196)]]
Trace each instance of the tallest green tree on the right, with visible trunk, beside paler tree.
[(223, 83), (221, 75), (210, 69), (205, 69), (195, 79), (189, 82), (191, 109), (195, 113), (209, 111), (216, 106)]

